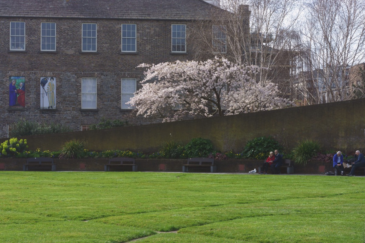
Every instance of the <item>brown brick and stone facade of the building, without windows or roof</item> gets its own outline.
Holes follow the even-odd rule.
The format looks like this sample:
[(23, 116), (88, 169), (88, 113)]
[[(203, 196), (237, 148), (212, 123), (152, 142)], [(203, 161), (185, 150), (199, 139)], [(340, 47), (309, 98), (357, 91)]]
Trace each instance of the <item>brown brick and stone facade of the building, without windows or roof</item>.
[[(26, 51), (9, 51), (10, 21), (25, 21)], [(56, 52), (41, 52), (41, 23), (56, 23)], [(97, 24), (97, 53), (81, 52), (82, 23)], [(137, 25), (137, 53), (121, 52), (121, 26)], [(158, 122), (158, 119), (136, 118), (130, 110), (121, 110), (121, 79), (136, 78), (141, 87), (144, 68), (141, 63), (160, 63), (193, 59), (193, 41), (187, 39), (186, 54), (171, 53), (171, 24), (193, 22), (175, 20), (118, 19), (46, 19), (0, 18), (0, 137), (7, 137), (7, 125), (23, 117), (38, 122), (61, 122), (74, 130), (95, 124), (100, 118), (127, 119), (132, 124)], [(188, 35), (187, 38), (189, 38)], [(25, 76), (26, 106), (9, 107), (9, 77)], [(40, 78), (56, 78), (55, 110), (40, 109)], [(97, 109), (81, 110), (81, 78), (97, 78)]]

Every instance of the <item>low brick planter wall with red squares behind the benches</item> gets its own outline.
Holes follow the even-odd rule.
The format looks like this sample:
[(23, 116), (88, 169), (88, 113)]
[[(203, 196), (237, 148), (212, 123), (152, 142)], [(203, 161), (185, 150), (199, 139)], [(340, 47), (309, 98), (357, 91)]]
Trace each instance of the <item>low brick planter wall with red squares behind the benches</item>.
[[(108, 163), (108, 159), (55, 159), (57, 171), (104, 171), (104, 164)], [(184, 160), (161, 160), (161, 159), (136, 159), (138, 171), (153, 172), (182, 172)], [(254, 168), (262, 165), (262, 160), (216, 160), (218, 173), (247, 173)], [(22, 171), (23, 164), (26, 159), (0, 159), (0, 171)], [(29, 167), (29, 170), (50, 171), (51, 167)], [(127, 168), (111, 168), (111, 171), (132, 171), (131, 167)], [(189, 172), (209, 172), (210, 168), (191, 168)], [(332, 163), (323, 161), (310, 161), (306, 166), (294, 165), (295, 174), (323, 174), (327, 171), (333, 171)], [(282, 173), (286, 172), (286, 168), (282, 168)], [(357, 171), (356, 175), (364, 175), (364, 170)]]

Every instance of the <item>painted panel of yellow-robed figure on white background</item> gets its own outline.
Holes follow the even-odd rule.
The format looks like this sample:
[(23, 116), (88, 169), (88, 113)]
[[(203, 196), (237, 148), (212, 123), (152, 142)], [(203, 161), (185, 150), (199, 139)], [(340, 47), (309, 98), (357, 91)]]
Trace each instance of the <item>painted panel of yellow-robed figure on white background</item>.
[(55, 77), (41, 77), (41, 109), (56, 109)]

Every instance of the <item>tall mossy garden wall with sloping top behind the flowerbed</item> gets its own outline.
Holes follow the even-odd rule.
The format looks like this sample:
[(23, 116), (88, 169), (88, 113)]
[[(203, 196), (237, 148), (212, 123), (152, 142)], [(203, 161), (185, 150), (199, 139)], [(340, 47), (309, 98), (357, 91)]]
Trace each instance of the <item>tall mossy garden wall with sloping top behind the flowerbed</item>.
[[(324, 149), (353, 154), (365, 147), (365, 99), (312, 106), (261, 111), (257, 113), (194, 119), (162, 124), (114, 129), (29, 136), (29, 149), (59, 150), (73, 138), (85, 140), (89, 150), (127, 150), (157, 152), (166, 141), (186, 144), (192, 138), (210, 139), (225, 152), (243, 150), (247, 141), (272, 136), (285, 148), (303, 139), (318, 140)], [(5, 140), (5, 139), (3, 139)]]

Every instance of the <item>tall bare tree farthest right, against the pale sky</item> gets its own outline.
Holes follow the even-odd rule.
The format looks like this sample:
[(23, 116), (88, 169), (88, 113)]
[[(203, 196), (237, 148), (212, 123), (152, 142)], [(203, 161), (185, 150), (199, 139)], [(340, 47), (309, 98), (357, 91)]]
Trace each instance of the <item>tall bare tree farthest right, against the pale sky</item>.
[(301, 26), (303, 95), (310, 104), (353, 98), (349, 77), (365, 58), (364, 0), (311, 0), (306, 16)]

